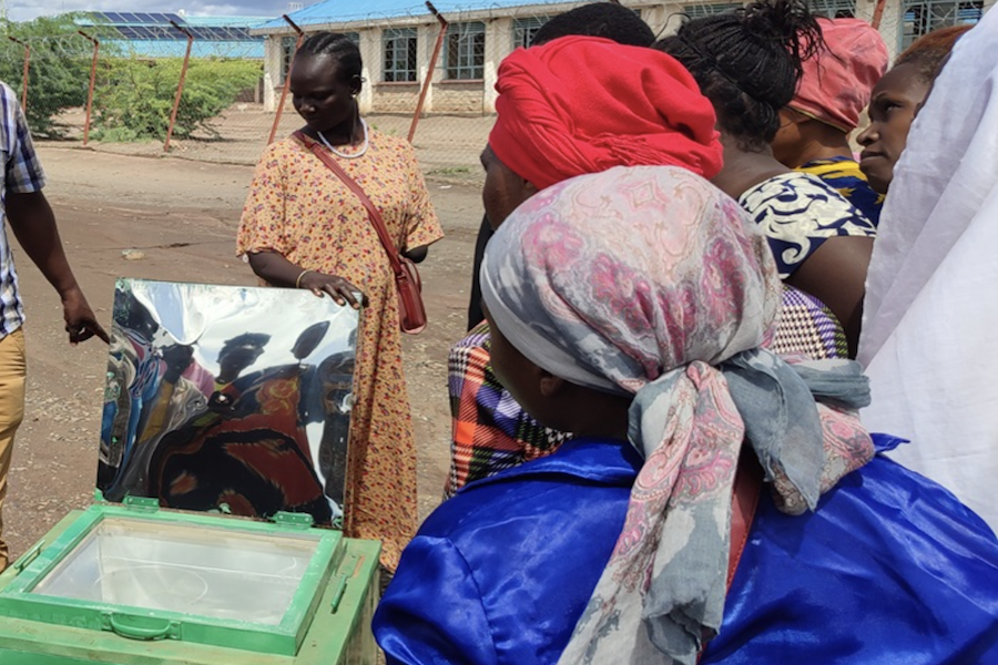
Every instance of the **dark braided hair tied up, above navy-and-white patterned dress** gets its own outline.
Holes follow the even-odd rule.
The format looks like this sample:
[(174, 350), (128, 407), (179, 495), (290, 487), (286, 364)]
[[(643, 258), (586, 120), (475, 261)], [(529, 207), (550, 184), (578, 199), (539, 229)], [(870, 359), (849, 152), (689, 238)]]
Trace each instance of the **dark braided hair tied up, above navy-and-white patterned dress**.
[(688, 20), (652, 48), (679, 60), (742, 150), (760, 151), (780, 129), (780, 109), (793, 99), (802, 62), (824, 48), (822, 29), (804, 0), (765, 0)]

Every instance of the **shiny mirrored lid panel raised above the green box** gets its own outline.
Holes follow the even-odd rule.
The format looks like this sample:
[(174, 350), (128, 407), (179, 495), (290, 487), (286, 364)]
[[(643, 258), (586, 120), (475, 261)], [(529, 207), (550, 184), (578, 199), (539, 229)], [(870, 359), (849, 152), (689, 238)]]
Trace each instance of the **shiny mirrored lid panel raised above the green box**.
[(98, 488), (335, 523), (358, 323), (305, 290), (119, 280)]

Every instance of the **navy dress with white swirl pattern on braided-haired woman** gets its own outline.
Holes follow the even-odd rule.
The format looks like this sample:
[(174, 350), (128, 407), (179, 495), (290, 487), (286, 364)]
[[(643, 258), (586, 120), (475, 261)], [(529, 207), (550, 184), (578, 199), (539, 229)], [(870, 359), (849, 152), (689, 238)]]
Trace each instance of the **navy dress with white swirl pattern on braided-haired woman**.
[(770, 239), (781, 279), (790, 277), (828, 238), (877, 235), (876, 226), (856, 206), (806, 173), (771, 177), (746, 190), (739, 203)]

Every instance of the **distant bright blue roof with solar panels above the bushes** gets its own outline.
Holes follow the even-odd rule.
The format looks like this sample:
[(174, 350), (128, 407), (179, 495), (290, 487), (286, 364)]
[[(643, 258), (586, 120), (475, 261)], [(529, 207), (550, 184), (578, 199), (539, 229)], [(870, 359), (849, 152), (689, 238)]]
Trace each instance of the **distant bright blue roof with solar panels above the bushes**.
[(265, 39), (251, 34), (249, 28), (265, 23), (269, 17), (190, 17), (165, 12), (91, 11), (80, 14), (82, 30), (98, 28), (103, 42), (113, 44), (123, 55), (134, 58), (183, 58), (187, 35), (194, 38), (192, 58), (228, 58), (263, 60)]

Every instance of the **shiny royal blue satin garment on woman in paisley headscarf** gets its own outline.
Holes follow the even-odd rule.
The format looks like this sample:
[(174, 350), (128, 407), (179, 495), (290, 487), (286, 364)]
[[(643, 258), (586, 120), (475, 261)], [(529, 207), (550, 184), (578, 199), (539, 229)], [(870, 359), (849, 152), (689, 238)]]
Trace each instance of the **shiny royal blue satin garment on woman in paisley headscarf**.
[[(388, 663), (554, 664), (640, 466), (628, 443), (577, 440), (444, 503), (375, 616)], [(813, 514), (785, 515), (764, 491), (701, 663), (998, 665), (998, 541), (949, 492), (883, 457)]]

